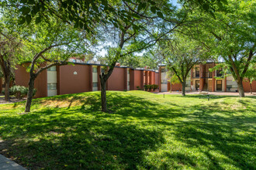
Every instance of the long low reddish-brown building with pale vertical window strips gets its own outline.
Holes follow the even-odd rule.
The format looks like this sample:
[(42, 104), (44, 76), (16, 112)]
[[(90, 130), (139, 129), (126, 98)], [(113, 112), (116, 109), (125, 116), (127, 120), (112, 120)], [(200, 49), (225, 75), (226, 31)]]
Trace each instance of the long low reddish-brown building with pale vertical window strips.
[[(35, 97), (50, 97), (67, 93), (82, 93), (100, 90), (99, 75), (105, 72), (108, 66), (95, 63), (75, 63), (74, 65), (53, 66), (43, 70), (35, 80), (37, 90)], [(16, 85), (28, 86), (29, 73), (26, 72), (25, 63), (16, 66)], [(116, 65), (106, 82), (106, 90), (137, 90), (144, 89), (146, 84), (158, 84), (158, 71), (143, 68), (130, 68)], [(3, 84), (3, 80), (0, 79)], [(2, 91), (0, 86), (0, 91)]]

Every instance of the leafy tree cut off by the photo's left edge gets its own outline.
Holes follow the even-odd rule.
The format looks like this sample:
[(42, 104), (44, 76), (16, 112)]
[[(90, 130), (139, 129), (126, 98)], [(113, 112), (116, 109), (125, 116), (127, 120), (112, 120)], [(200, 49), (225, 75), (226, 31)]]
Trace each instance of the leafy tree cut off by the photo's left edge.
[(9, 12), (0, 12), (0, 68), (5, 79), (5, 100), (10, 100), (9, 87), (19, 53), (22, 53), (22, 37), (26, 36), (26, 29), (17, 25), (17, 20)]

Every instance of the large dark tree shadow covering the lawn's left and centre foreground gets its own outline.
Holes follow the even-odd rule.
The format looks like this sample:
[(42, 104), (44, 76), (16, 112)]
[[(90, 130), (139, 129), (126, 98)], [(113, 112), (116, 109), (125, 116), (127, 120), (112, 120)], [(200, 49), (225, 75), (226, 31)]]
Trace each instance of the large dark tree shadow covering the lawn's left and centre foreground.
[(5, 119), (1, 136), (9, 141), (9, 151), (16, 152), (23, 165), (26, 162), (25, 166), (32, 168), (134, 169), (143, 161), (144, 150), (154, 150), (164, 141), (161, 131), (100, 118), (54, 116), (56, 113), (41, 113), (48, 119), (34, 114)]

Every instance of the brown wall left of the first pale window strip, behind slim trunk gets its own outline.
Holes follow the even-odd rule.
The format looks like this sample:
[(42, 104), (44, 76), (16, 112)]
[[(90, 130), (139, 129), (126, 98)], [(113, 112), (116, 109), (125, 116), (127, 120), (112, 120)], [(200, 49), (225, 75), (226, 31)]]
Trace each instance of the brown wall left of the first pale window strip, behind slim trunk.
[[(29, 73), (26, 72), (25, 66), (16, 66), (16, 85), (28, 87), (29, 86)], [(36, 88), (37, 97), (47, 97), (47, 70), (43, 70), (35, 80), (34, 87)]]

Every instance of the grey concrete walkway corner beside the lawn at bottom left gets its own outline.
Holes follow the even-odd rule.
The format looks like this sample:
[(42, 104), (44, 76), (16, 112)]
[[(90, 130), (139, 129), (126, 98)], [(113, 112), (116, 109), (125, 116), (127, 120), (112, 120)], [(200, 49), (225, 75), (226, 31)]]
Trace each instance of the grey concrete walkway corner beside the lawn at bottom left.
[(0, 169), (1, 170), (26, 170), (21, 165), (12, 162), (9, 158), (5, 158), (3, 155), (0, 155)]

